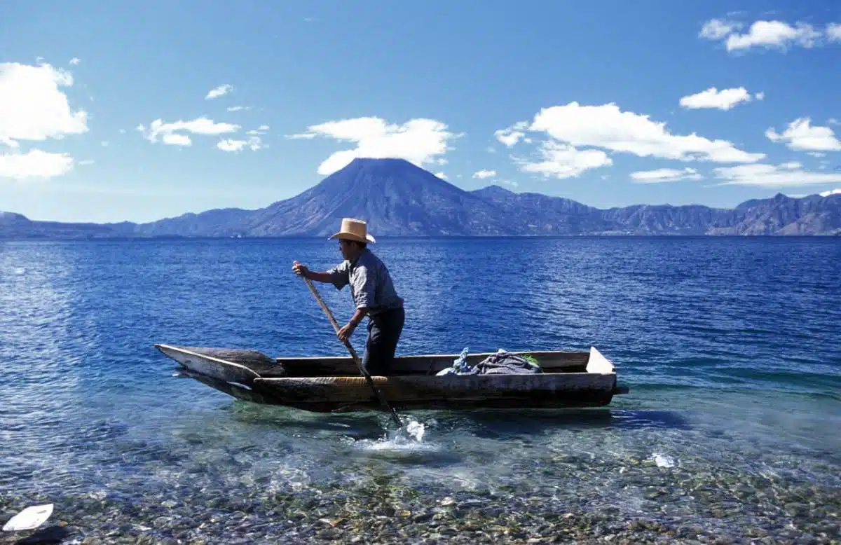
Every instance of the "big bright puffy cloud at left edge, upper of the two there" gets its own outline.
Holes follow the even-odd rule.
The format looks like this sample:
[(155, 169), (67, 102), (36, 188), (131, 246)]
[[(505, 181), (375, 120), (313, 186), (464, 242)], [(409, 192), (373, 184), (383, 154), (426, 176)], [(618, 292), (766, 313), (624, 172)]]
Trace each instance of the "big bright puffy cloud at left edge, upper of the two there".
[(0, 144), (86, 133), (87, 112), (71, 110), (60, 89), (71, 85), (69, 72), (49, 64), (0, 63)]

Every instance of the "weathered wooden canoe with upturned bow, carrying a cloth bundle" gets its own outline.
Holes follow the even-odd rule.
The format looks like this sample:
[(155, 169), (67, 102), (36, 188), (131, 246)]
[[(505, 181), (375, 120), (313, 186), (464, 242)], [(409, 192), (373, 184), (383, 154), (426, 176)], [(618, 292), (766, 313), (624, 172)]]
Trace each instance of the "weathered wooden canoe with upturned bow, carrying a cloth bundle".
[[(351, 357), (268, 357), (253, 350), (155, 347), (180, 363), (186, 375), (244, 399), (316, 412), (377, 410), (380, 405)], [(493, 352), (469, 354), (475, 365)], [(373, 377), (395, 409), (551, 408), (608, 405), (616, 370), (601, 353), (512, 352), (537, 359), (542, 373), (444, 375), (458, 354), (399, 356), (394, 375)]]

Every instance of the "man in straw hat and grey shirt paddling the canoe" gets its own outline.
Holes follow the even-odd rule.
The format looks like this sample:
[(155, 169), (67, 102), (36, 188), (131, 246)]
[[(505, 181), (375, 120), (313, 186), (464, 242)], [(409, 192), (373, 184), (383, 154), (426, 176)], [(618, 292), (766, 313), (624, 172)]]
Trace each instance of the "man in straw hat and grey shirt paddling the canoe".
[(368, 249), (368, 243), (376, 241), (368, 234), (364, 221), (345, 218), (341, 220), (339, 232), (330, 238), (339, 239), (344, 262), (323, 273), (315, 273), (296, 261), (292, 270), (316, 282), (332, 283), (336, 289), (350, 285), (356, 312), (337, 336), (341, 341), (349, 339), (362, 318), (368, 315), (368, 339), (362, 365), (371, 375), (388, 375), (403, 331), (403, 299), (394, 289), (389, 269)]

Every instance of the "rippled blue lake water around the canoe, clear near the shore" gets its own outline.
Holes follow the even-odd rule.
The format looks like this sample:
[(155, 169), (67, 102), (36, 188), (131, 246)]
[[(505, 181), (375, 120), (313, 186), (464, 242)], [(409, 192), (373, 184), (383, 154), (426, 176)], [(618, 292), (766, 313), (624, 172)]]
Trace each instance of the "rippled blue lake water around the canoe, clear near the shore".
[[(838, 539), (841, 241), (375, 251), (407, 301), (399, 352), (593, 345), (631, 393), (411, 412), (422, 441), (395, 441), (382, 413), (235, 401), (152, 347), (343, 354), (290, 271), (337, 262), (333, 242), (0, 243), (0, 520), (54, 502), (65, 542)], [(346, 320), (349, 294), (319, 288)]]

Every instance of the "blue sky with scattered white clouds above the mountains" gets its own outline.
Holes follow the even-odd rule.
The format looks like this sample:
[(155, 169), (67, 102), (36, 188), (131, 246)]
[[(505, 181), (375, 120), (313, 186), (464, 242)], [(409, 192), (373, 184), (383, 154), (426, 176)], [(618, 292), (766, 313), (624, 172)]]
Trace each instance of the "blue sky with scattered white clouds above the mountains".
[(836, 24), (828, 0), (6, 1), (0, 209), (256, 209), (360, 155), (600, 208), (821, 193)]

